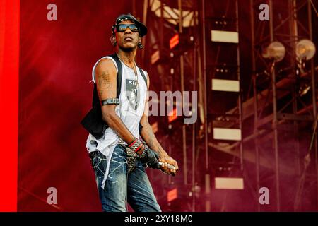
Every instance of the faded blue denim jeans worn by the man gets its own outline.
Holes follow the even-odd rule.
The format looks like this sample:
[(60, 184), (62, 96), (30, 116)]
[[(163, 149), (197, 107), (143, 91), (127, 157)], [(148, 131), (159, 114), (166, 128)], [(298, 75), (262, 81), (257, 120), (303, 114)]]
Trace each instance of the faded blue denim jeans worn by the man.
[(124, 145), (117, 145), (110, 160), (110, 171), (102, 189), (107, 158), (99, 151), (90, 153), (95, 172), (98, 194), (102, 210), (107, 212), (126, 212), (126, 202), (136, 212), (160, 212), (153, 189), (148, 180), (145, 167), (137, 160), (136, 168), (128, 174), (127, 155)]

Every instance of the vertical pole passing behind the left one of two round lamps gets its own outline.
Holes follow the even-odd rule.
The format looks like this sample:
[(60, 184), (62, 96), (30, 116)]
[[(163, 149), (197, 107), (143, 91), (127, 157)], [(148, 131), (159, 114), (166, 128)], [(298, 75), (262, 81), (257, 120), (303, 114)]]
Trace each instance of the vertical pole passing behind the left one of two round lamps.
[[(274, 40), (273, 36), (273, 0), (269, 0), (269, 30), (271, 35), (271, 42)], [(276, 181), (276, 206), (277, 211), (281, 211), (280, 201), (280, 184), (279, 184), (279, 153), (278, 153), (278, 121), (277, 121), (277, 100), (276, 100), (276, 74), (275, 74), (275, 62), (271, 65), (271, 83), (273, 90), (273, 146), (275, 150), (275, 181)]]

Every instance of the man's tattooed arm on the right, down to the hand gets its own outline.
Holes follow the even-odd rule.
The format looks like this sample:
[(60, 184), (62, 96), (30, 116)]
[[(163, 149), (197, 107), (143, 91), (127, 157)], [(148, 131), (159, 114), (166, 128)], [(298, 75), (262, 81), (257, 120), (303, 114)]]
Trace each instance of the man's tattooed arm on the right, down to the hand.
[[(148, 75), (147, 75), (148, 76)], [(149, 76), (147, 79), (147, 90), (149, 90)], [(143, 129), (141, 129), (141, 137), (143, 138), (143, 141), (147, 143), (149, 148), (154, 150), (156, 153), (159, 154), (159, 161), (163, 162), (164, 165), (161, 166), (161, 169), (163, 172), (167, 174), (175, 174), (177, 170), (179, 169), (177, 161), (174, 160), (172, 157), (170, 157), (165, 150), (163, 150), (163, 147), (161, 147), (160, 143), (158, 142), (157, 138), (155, 137), (155, 134), (153, 133), (153, 129), (148, 121), (148, 92), (146, 97), (146, 105), (145, 109), (143, 111), (143, 117), (141, 117), (141, 126), (143, 126)], [(167, 164), (173, 165), (175, 169), (170, 169), (170, 167), (167, 166)]]

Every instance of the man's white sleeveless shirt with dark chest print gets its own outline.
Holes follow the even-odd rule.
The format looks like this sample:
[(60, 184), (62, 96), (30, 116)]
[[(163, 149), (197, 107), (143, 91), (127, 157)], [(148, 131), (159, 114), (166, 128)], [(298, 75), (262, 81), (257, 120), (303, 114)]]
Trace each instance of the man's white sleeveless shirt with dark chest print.
[[(117, 69), (117, 64), (112, 57), (102, 57), (101, 59), (111, 59), (114, 66)], [(92, 78), (95, 83), (95, 68), (99, 59), (93, 66)], [(143, 111), (146, 104), (147, 95), (147, 84), (146, 81), (141, 76), (139, 68), (136, 66), (137, 76), (134, 70), (126, 66), (122, 61), (122, 84), (119, 95), (119, 105), (116, 105), (115, 112), (117, 116), (122, 119), (127, 129), (136, 137), (140, 137), (139, 133), (139, 122), (143, 116)], [(118, 71), (118, 69), (117, 69)], [(147, 72), (143, 71), (144, 75), (147, 76)], [(118, 143), (125, 143), (119, 136), (108, 127), (105, 130), (104, 136), (100, 139), (96, 139), (92, 134), (88, 135), (86, 141), (86, 148), (88, 152), (100, 151), (103, 155), (107, 157), (107, 169), (105, 172), (104, 181), (102, 183), (102, 188), (105, 186), (105, 181), (107, 179), (110, 159), (112, 157), (112, 152)]]

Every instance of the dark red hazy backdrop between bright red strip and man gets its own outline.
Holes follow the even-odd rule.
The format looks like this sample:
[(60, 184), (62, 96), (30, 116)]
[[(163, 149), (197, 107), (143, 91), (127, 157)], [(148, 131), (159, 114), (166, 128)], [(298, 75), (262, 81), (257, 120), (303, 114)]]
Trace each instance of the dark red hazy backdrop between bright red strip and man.
[[(57, 5), (57, 21), (47, 5)], [(92, 100), (91, 70), (112, 52), (111, 26), (131, 1), (21, 1), (18, 210), (100, 210), (80, 121)], [(131, 12), (132, 13), (132, 12)]]

